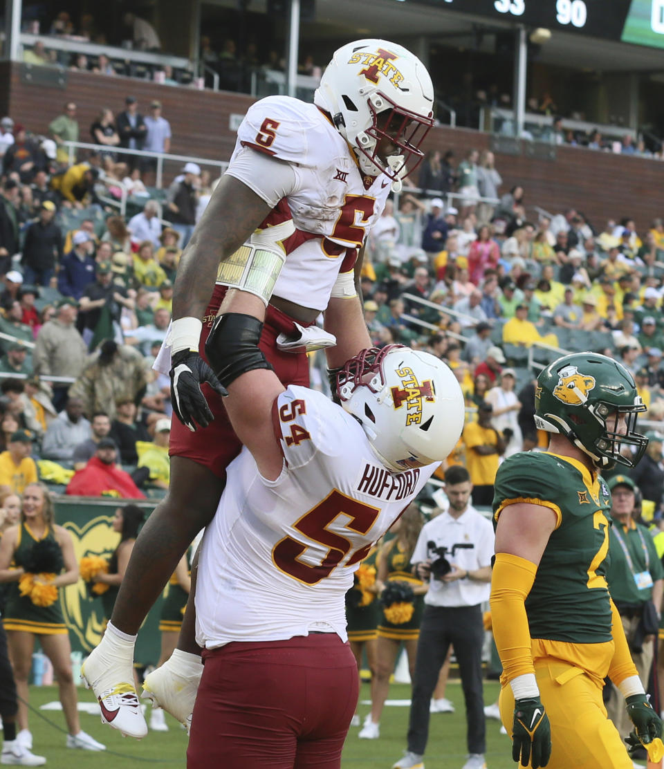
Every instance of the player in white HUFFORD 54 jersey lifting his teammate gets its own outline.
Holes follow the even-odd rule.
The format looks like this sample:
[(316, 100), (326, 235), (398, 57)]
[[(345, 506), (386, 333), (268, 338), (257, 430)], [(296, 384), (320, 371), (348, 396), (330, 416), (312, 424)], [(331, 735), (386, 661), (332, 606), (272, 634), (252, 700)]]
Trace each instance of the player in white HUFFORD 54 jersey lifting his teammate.
[(245, 448), (200, 548), (189, 769), (340, 766), (359, 687), (345, 593), (463, 426), (452, 371), (400, 345), (348, 361), (342, 406), (285, 388), (258, 347), (264, 315), (229, 292), (206, 345)]

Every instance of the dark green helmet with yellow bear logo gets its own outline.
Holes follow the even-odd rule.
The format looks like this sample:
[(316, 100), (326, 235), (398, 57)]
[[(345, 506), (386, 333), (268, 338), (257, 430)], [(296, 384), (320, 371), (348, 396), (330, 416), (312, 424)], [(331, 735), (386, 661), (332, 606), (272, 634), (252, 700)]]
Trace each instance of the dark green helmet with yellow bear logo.
[[(646, 406), (632, 375), (606, 355), (565, 355), (537, 378), (537, 428), (565, 435), (599, 469), (615, 464), (633, 468), (642, 458), (648, 445), (648, 438), (636, 432), (636, 417), (642, 411)], [(621, 414), (627, 421), (624, 435), (618, 432)], [(629, 457), (620, 453), (625, 446), (632, 448)]]

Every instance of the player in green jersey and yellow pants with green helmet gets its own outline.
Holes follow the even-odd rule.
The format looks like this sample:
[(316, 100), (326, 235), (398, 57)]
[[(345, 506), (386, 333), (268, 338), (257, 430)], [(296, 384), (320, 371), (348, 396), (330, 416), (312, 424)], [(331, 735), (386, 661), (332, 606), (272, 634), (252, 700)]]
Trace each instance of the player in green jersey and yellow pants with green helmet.
[(639, 461), (648, 441), (636, 418), (645, 410), (616, 361), (559, 358), (536, 388), (536, 425), (552, 433), (549, 450), (514, 454), (495, 479), (500, 710), (513, 759), (533, 769), (631, 769), (602, 703), (607, 675), (626, 697), (640, 741), (662, 734), (606, 584), (611, 496), (599, 474)]

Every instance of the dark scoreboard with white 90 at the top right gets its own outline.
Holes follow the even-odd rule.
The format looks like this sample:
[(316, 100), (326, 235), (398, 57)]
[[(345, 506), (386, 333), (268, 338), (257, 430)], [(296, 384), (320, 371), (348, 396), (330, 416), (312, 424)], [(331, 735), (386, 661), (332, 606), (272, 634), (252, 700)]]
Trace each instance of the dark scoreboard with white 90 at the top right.
[(491, 19), (664, 48), (664, 0), (420, 0)]

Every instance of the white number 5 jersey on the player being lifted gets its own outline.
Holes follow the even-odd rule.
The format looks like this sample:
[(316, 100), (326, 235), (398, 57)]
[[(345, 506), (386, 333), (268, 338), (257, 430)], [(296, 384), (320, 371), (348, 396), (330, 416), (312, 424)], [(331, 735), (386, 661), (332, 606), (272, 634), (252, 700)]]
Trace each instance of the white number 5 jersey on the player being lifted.
[(274, 221), (265, 220), (290, 216), (295, 225), (273, 293), (324, 310), (339, 272), (352, 270), (356, 250), (385, 208), (391, 181), (363, 175), (329, 118), (289, 96), (268, 96), (249, 108), (226, 173), (233, 175), (233, 161), (252, 151), (289, 163), (295, 174), (286, 205), (273, 211)]

